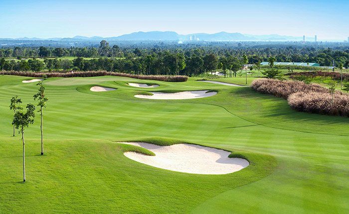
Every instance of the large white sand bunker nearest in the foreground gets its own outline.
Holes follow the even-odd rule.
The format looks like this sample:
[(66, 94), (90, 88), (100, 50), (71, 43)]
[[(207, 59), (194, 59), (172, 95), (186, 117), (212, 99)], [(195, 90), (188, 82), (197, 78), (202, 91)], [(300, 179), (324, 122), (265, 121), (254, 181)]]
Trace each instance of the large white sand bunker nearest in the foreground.
[[(124, 142), (122, 142), (124, 143)], [(229, 158), (230, 152), (193, 144), (160, 146), (151, 143), (125, 143), (144, 147), (156, 155), (149, 156), (128, 151), (124, 155), (132, 160), (154, 167), (193, 174), (228, 174), (249, 165), (243, 158)]]

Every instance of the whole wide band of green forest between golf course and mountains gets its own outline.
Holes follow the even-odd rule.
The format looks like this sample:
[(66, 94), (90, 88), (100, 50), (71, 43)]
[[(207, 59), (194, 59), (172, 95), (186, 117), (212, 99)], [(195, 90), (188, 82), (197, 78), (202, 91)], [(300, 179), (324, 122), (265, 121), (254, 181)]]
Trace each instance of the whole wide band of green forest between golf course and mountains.
[(191, 76), (217, 69), (238, 71), (243, 64), (259, 64), (271, 56), (277, 62), (309, 62), (321, 66), (333, 66), (335, 63), (335, 66), (348, 68), (349, 46), (335, 44), (327, 47), (316, 44), (302, 46), (273, 43), (208, 43), (182, 46), (140, 43), (119, 47), (111, 46), (103, 40), (98, 47), (1, 48), (0, 68), (6, 71), (105, 70)]

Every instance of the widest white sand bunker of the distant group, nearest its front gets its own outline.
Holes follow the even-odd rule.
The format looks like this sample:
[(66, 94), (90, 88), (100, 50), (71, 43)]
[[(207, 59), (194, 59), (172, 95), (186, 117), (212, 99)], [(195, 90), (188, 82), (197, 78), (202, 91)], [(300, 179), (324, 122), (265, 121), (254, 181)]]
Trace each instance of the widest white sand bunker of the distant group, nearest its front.
[[(150, 92), (153, 95), (137, 94), (135, 97), (143, 99), (155, 99), (155, 100), (183, 100), (183, 99), (196, 99), (203, 97), (210, 97), (216, 95), (217, 92), (207, 92), (208, 90), (200, 91), (182, 91), (176, 93), (164, 93), (164, 92)], [(206, 93), (207, 92), (207, 93)]]

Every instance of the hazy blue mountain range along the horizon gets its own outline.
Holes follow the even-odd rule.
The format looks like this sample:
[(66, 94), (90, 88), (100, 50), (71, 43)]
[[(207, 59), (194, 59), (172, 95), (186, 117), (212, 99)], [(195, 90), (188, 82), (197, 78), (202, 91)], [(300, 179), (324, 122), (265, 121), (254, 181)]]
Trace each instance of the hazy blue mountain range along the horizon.
[[(124, 34), (116, 37), (86, 37), (86, 36), (74, 36), (72, 38), (49, 38), (49, 39), (41, 39), (41, 38), (17, 38), (17, 39), (9, 39), (9, 38), (0, 38), (0, 40), (21, 40), (21, 41), (42, 41), (42, 40), (52, 40), (52, 41), (69, 41), (69, 42), (79, 42), (79, 41), (121, 41), (121, 40), (129, 40), (129, 41), (142, 41), (142, 40), (163, 40), (163, 41), (189, 41), (189, 40), (200, 40), (200, 41), (251, 41), (251, 40), (270, 40), (270, 41), (299, 41), (302, 40), (302, 37), (295, 36), (281, 36), (277, 34), (270, 35), (250, 35), (250, 34), (241, 34), (241, 33), (227, 33), (227, 32), (219, 32), (219, 33), (193, 33), (180, 35), (173, 31), (150, 31), (150, 32), (134, 32), (130, 34)], [(307, 40), (313, 40), (312, 37), (307, 37)]]

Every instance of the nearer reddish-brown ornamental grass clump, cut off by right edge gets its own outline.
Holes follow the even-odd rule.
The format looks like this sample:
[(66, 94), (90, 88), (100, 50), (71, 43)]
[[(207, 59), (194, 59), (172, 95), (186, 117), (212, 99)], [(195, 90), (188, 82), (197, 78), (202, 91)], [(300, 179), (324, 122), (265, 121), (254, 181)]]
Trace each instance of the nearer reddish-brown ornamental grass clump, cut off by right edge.
[(336, 93), (297, 92), (291, 94), (288, 104), (297, 111), (349, 117), (349, 96)]

